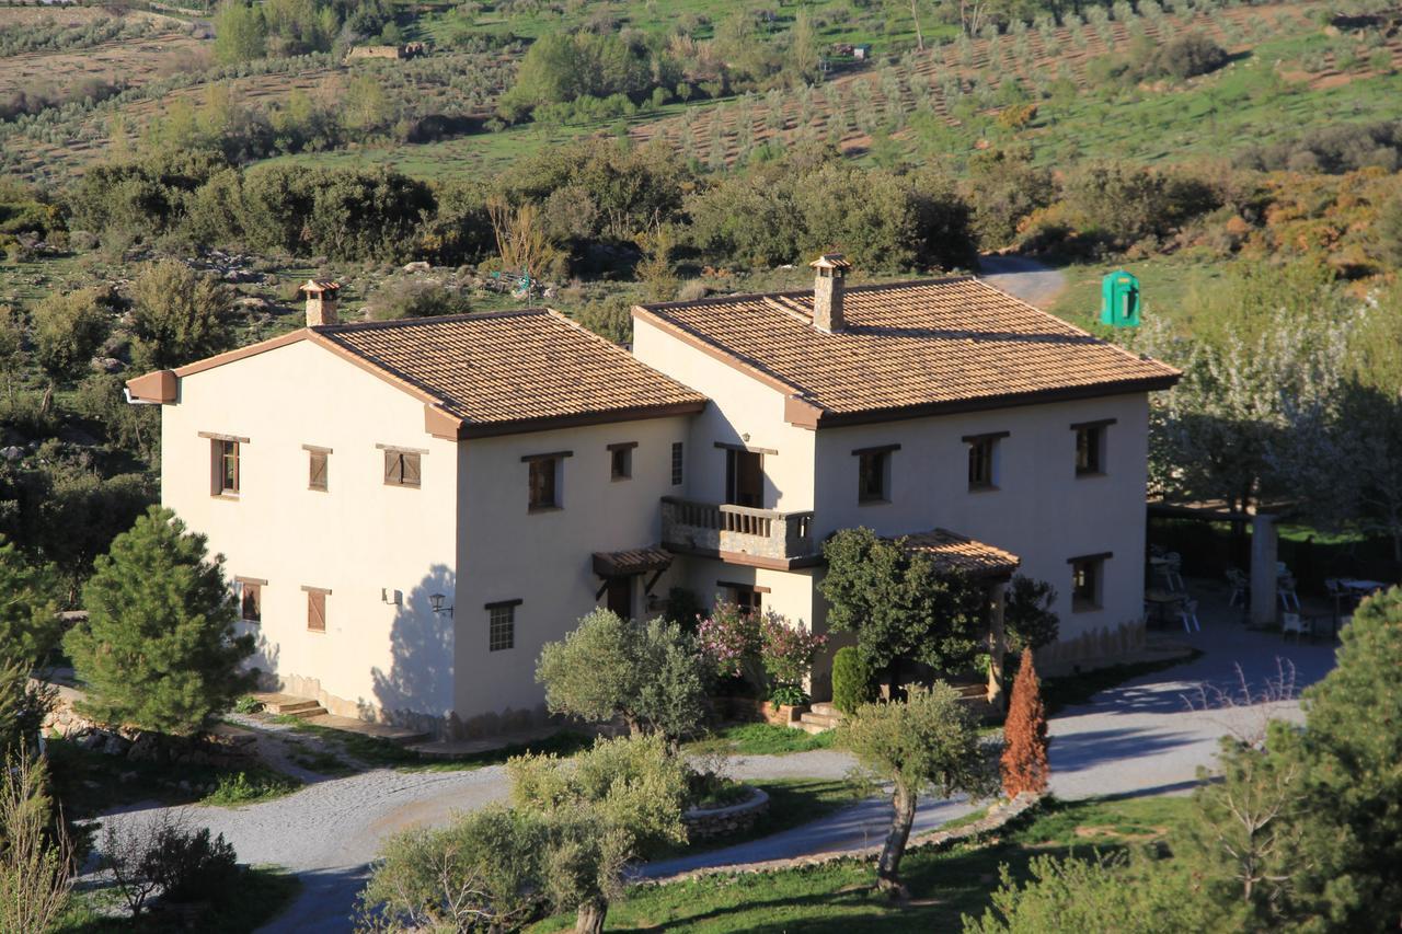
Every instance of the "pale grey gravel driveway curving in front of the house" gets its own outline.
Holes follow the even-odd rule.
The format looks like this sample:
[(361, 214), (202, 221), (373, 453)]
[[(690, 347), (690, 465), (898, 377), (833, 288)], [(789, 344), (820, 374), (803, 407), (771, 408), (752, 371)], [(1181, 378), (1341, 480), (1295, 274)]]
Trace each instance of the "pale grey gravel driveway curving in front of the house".
[[(1189, 698), (1204, 682), (1230, 687), (1234, 663), (1244, 662), (1253, 683), (1276, 670), (1276, 656), (1288, 655), (1302, 687), (1332, 665), (1328, 645), (1284, 645), (1279, 635), (1246, 632), (1235, 623), (1204, 614), (1203, 632), (1182, 637), (1207, 655), (1159, 675), (1136, 679), (1098, 694), (1084, 707), (1064, 711), (1050, 724), (1052, 788), (1063, 798), (1103, 794), (1186, 792), (1197, 767), (1210, 766), (1217, 738), (1251, 726), (1262, 708), (1192, 710)], [(1297, 704), (1277, 712), (1298, 715)], [(815, 750), (789, 756), (737, 756), (737, 778), (840, 778), (848, 756)], [(188, 808), (192, 822), (223, 833), (247, 862), (287, 867), (303, 878), (304, 891), (292, 909), (269, 924), (269, 933), (346, 931), (365, 865), (388, 834), (423, 823), (442, 823), (454, 811), (479, 808), (508, 795), (505, 769), (400, 773), (387, 769), (321, 781), (301, 791), (245, 808)], [(962, 802), (927, 801), (920, 827), (934, 827), (967, 812)], [(112, 815), (139, 820), (153, 809), (140, 806)], [(869, 801), (819, 822), (765, 840), (680, 857), (648, 867), (648, 875), (669, 875), (701, 865), (771, 860), (823, 850), (859, 847), (879, 839), (889, 806)]]

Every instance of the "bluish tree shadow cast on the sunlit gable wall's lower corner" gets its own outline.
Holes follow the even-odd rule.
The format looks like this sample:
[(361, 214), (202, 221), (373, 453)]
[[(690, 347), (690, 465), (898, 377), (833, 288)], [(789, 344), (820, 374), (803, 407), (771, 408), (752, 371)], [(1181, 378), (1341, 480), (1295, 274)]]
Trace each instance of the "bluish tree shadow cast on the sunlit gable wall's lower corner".
[[(457, 575), (433, 565), (400, 597), (390, 627), (390, 668), (373, 668), (374, 700), (391, 721), (426, 725), (453, 711)], [(439, 603), (435, 610), (435, 603)]]

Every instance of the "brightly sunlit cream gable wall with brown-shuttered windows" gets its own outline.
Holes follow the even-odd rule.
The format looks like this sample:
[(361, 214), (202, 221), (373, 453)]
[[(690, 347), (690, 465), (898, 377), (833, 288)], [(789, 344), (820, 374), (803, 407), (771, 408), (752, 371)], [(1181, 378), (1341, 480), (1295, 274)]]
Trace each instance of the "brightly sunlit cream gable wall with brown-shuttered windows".
[[(248, 438), (237, 501), (210, 495), (210, 442)], [(384, 485), (377, 443), (423, 449), (422, 487)], [(327, 492), (307, 488), (303, 445), (331, 447)], [(453, 703), (457, 453), (423, 432), (423, 404), (310, 342), (186, 376), (163, 407), (161, 501), (233, 576), (262, 578), (259, 658), (334, 712), (358, 704), (443, 715)], [(307, 630), (301, 586), (331, 589), (327, 631)], [(405, 596), (381, 602), (381, 588)], [(321, 696), (318, 696), (318, 691)]]

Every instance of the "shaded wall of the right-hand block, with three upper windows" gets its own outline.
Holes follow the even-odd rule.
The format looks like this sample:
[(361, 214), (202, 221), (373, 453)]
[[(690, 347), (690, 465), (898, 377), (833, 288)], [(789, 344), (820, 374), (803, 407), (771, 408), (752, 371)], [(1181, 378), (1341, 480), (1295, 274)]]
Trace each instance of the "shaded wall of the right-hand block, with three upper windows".
[[(1075, 422), (1117, 419), (1105, 433), (1105, 475), (1077, 477)], [(1061, 638), (1143, 616), (1144, 484), (1148, 402), (1144, 394), (1026, 405), (817, 433), (815, 534), (866, 526), (880, 534), (945, 527), (1007, 548), (1021, 574), (1057, 589)], [(966, 435), (998, 440), (998, 489), (972, 492)], [(900, 445), (892, 454), (892, 501), (859, 503), (854, 449)], [(1067, 558), (1113, 553), (1102, 609), (1073, 611)]]

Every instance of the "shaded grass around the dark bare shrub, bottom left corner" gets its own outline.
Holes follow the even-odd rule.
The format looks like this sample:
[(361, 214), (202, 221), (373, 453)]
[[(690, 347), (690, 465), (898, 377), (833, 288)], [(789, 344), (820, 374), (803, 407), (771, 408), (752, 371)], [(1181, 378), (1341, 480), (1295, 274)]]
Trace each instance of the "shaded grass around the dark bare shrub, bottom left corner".
[(111, 889), (79, 893), (56, 928), (57, 934), (109, 934), (116, 931), (192, 931), (200, 934), (245, 934), (255, 931), (272, 919), (297, 896), (301, 882), (296, 875), (278, 867), (251, 867), (238, 884), (229, 889), (220, 900), (205, 909), (192, 923), (184, 914), (161, 917), (146, 914), (140, 924), (132, 924), (125, 917), (112, 917), (111, 906), (125, 905)]

